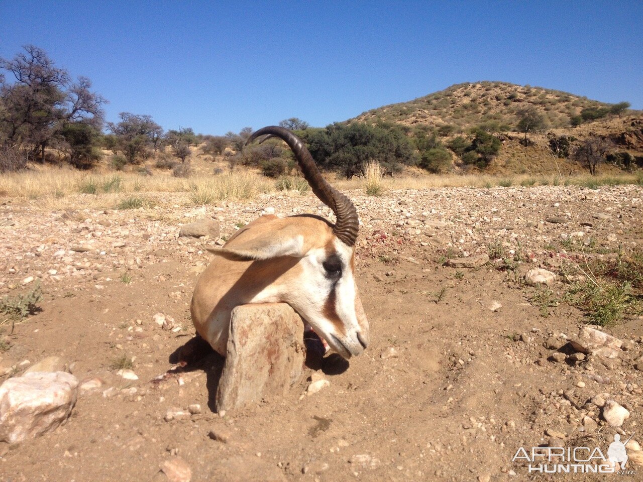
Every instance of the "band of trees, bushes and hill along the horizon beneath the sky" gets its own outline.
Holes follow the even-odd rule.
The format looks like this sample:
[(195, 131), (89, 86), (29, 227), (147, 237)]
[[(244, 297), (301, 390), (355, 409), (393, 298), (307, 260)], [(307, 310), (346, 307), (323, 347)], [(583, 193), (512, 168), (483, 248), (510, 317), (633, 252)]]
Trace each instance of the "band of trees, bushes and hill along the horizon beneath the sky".
[[(88, 78), (74, 81), (40, 48), (0, 58), (0, 173), (48, 164), (186, 178), (196, 174), (199, 156), (215, 175), (298, 173), (282, 141), (246, 146), (251, 127), (223, 136), (165, 130), (152, 116), (132, 112), (105, 122), (106, 102)], [(628, 108), (541, 87), (476, 82), (323, 128), (298, 118), (280, 125), (307, 143), (322, 170), (347, 179), (363, 177), (372, 163), (391, 176), (617, 174), (643, 168), (643, 112)]]

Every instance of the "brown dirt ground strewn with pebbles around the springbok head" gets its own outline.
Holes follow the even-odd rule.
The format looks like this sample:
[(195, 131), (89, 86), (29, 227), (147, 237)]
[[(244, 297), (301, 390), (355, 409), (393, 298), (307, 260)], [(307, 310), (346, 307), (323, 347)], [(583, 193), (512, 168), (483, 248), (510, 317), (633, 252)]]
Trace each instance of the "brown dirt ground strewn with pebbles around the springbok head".
[[(555, 351), (548, 340), (576, 335), (583, 313), (569, 303), (543, 308), (532, 299), (536, 288), (521, 280), (545, 267), (559, 276), (552, 296), (562, 296), (565, 263), (573, 265), (580, 248), (560, 242), (577, 231), (592, 240), (583, 248), (588, 256), (640, 247), (641, 188), (348, 194), (363, 222), (356, 269), (370, 346), (346, 370), (327, 364), (331, 385), (319, 393), (302, 397), (312, 374), (306, 368), (287, 397), (225, 414), (213, 412), (215, 355), (203, 370), (150, 382), (174, 367), (172, 353), (194, 335), (190, 298), (211, 256), (203, 248), (215, 244), (179, 238), (180, 226), (217, 219), (229, 237), (270, 208), (284, 215), (329, 210), (312, 195), (294, 194), (199, 208), (185, 194), (164, 193), (156, 208), (129, 211), (84, 209), (82, 195), (75, 208), (59, 210), (0, 199), (0, 294), (30, 289), (37, 282), (24, 285), (30, 276), (44, 293), (42, 311), (8, 337), (0, 381), (49, 355), (66, 360), (81, 382), (102, 381), (80, 393), (57, 430), (0, 443), (0, 480), (158, 482), (172, 480), (159, 468), (176, 458), (192, 481), (602, 480), (529, 474), (512, 458), (551, 439), (606, 452), (615, 429), (587, 403), (599, 393), (629, 409), (626, 436), (640, 432), (643, 375), (633, 366), (643, 351), (642, 321), (633, 316), (606, 328), (627, 342), (616, 359), (547, 361)], [(523, 262), (515, 271), (493, 259), (477, 269), (442, 265), (492, 248), (511, 256), (518, 250)], [(502, 308), (492, 311), (493, 301)], [(157, 312), (181, 330), (161, 329), (152, 320)], [(3, 330), (8, 336), (8, 325)], [(123, 357), (134, 359), (138, 380), (116, 375)], [(201, 413), (165, 420), (168, 410), (192, 404)], [(583, 424), (585, 417), (598, 425)], [(628, 469), (638, 473), (622, 479), (642, 479), (643, 467)]]

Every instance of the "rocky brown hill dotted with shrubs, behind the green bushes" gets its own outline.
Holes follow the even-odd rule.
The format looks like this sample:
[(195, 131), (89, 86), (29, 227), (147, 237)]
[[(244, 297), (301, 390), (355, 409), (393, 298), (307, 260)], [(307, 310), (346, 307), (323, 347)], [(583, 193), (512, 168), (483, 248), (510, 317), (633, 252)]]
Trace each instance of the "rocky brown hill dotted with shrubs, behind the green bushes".
[[(410, 135), (433, 130), (445, 144), (483, 127), (502, 141), (502, 149), (486, 169), (500, 174), (583, 171), (581, 163), (552, 156), (549, 141), (553, 136), (569, 137), (572, 148), (590, 136), (599, 136), (610, 141), (612, 153), (627, 152), (643, 166), (643, 111), (619, 111), (617, 105), (530, 85), (466, 82), (410, 102), (371, 109), (347, 123), (395, 123), (406, 127)], [(525, 110), (544, 121), (541, 129), (529, 134), (527, 145), (518, 129)], [(455, 155), (454, 164), (456, 169), (462, 167)], [(615, 169), (602, 166), (603, 171)]]

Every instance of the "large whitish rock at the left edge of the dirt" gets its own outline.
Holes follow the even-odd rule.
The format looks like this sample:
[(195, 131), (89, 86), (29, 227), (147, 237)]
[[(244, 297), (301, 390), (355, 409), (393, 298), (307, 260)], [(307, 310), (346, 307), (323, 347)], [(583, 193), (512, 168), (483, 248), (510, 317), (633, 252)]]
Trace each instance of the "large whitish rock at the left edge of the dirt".
[(64, 371), (26, 373), (0, 386), (0, 440), (35, 438), (58, 427), (71, 414), (78, 380)]

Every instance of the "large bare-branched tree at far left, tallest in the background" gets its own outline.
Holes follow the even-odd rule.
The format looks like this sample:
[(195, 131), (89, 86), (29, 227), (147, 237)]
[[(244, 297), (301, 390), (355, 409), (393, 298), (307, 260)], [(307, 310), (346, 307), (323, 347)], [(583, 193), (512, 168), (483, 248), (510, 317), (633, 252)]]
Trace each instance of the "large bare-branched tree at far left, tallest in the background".
[(0, 141), (42, 161), (48, 145), (66, 140), (62, 132), (68, 123), (100, 129), (107, 101), (91, 91), (88, 78), (73, 82), (43, 49), (23, 49), (12, 60), (0, 58), (0, 69), (13, 78), (0, 75)]

